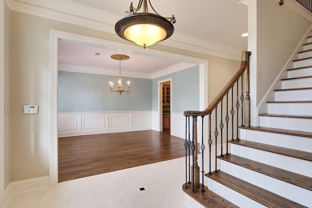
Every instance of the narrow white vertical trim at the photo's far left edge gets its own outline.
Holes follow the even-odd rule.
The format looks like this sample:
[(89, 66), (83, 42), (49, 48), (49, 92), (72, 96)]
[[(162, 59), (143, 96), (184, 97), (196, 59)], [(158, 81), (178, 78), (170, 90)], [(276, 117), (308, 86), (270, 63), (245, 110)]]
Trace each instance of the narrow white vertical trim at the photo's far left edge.
[(0, 207), (4, 202), (4, 1), (0, 0)]

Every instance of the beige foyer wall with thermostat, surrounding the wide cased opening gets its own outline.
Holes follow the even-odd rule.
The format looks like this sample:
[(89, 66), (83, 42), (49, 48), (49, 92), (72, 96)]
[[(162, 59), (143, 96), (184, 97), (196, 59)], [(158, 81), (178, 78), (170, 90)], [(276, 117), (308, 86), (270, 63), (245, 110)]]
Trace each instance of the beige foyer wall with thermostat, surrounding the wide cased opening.
[[(124, 42), (115, 34), (11, 11), (11, 181), (49, 174), (49, 29)], [(217, 81), (209, 77), (209, 99), (223, 88), (240, 64), (159, 44), (151, 48), (208, 59), (208, 75), (222, 78)], [(29, 104), (39, 105), (39, 113), (23, 114), (23, 105)]]

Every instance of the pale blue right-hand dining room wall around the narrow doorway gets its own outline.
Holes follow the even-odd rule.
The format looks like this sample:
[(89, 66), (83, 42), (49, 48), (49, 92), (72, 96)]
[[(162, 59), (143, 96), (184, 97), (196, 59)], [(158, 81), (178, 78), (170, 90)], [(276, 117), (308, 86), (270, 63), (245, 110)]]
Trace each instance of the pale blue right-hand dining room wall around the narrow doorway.
[(158, 81), (172, 78), (172, 113), (199, 110), (199, 66), (153, 79), (153, 111), (158, 111)]

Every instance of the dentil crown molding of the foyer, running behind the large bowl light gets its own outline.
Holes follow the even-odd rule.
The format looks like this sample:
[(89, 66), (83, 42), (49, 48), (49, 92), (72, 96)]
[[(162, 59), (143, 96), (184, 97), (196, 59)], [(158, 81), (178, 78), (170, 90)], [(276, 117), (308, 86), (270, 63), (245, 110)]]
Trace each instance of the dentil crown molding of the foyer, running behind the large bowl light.
[[(115, 34), (115, 23), (122, 18), (70, 0), (5, 0), (9, 8), (26, 14)], [(157, 44), (193, 52), (240, 60), (242, 49), (175, 32)]]

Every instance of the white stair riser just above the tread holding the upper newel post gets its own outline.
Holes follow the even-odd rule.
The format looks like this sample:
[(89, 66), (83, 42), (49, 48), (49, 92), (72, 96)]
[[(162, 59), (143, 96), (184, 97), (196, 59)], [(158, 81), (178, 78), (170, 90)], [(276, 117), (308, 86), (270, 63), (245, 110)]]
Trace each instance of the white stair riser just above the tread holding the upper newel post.
[(259, 126), (276, 129), (312, 132), (312, 119), (259, 116)]

